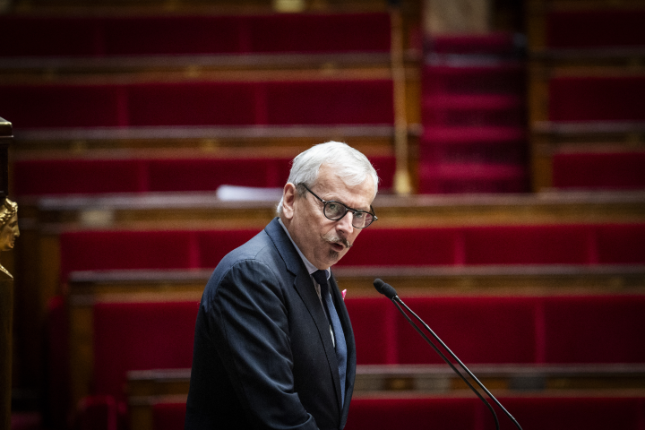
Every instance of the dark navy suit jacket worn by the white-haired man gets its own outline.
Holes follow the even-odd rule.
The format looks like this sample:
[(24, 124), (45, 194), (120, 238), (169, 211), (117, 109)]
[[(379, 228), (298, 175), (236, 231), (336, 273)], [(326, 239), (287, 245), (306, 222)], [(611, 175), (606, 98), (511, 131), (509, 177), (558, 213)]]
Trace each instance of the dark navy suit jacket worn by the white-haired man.
[(345, 387), (323, 306), (278, 219), (224, 257), (197, 314), (185, 428), (342, 429), (356, 347), (333, 276), (330, 290), (348, 346)]

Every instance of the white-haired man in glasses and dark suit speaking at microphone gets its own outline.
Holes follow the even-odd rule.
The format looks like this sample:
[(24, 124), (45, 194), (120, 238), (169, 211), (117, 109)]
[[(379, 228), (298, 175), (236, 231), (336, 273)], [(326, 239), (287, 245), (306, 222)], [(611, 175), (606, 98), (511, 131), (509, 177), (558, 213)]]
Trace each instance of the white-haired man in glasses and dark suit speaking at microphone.
[(280, 217), (224, 257), (204, 289), (186, 429), (345, 426), (356, 349), (329, 268), (376, 219), (377, 185), (345, 143), (294, 159)]

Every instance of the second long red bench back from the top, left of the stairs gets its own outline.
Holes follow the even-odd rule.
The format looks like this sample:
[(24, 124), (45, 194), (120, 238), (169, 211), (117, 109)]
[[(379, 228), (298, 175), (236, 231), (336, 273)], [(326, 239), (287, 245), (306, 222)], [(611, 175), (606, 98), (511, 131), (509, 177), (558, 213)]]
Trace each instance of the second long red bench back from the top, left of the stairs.
[(0, 85), (28, 128), (391, 125), (391, 80)]

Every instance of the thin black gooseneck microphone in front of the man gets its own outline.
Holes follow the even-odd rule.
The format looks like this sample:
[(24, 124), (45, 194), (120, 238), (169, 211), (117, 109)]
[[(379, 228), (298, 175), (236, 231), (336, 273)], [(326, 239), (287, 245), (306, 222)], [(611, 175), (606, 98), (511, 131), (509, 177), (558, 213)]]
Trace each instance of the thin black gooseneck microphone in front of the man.
[[(484, 390), (484, 391), (486, 392), (486, 395), (487, 395), (490, 399), (492, 399), (493, 401), (495, 401), (495, 404), (496, 404), (500, 409), (502, 409), (502, 410), (503, 410), (503, 413), (504, 413), (507, 417), (509, 417), (509, 418), (511, 419), (511, 421), (513, 422), (513, 424), (514, 424), (515, 426), (517, 426), (517, 428), (519, 428), (520, 430), (522, 430), (522, 428), (520, 427), (520, 423), (518, 423), (518, 422), (517, 422), (517, 420), (516, 420), (514, 417), (512, 417), (512, 415), (509, 413), (509, 411), (508, 411), (508, 410), (506, 410), (506, 409), (502, 406), (502, 403), (500, 403), (497, 399), (495, 399), (495, 396), (494, 396), (493, 394), (491, 394), (491, 392), (490, 392), (490, 391), (488, 391), (488, 389), (486, 389), (486, 387), (484, 386), (484, 384), (479, 382), (479, 380), (477, 379), (477, 376), (475, 376), (475, 374), (473, 374), (472, 372), (470, 372), (469, 368), (468, 368), (468, 367), (466, 367), (466, 365), (464, 365), (464, 364), (461, 362), (461, 360), (459, 359), (459, 357), (455, 356), (455, 355), (454, 355), (454, 353), (452, 353), (452, 350), (451, 350), (450, 348), (448, 348), (448, 346), (447, 346), (445, 343), (443, 343), (443, 340), (439, 339), (439, 336), (437, 336), (436, 334), (434, 334), (434, 331), (433, 331), (430, 327), (428, 327), (428, 325), (427, 325), (427, 324), (426, 324), (426, 323), (425, 323), (421, 318), (419, 318), (419, 317), (417, 316), (417, 314), (415, 314), (414, 312), (412, 312), (412, 309), (410, 309), (410, 308), (408, 307), (408, 305), (406, 305), (405, 303), (403, 303), (403, 300), (401, 300), (401, 299), (400, 299), (400, 297), (397, 295), (396, 289), (394, 289), (390, 284), (386, 284), (385, 282), (383, 282), (383, 280), (379, 280), (379, 279), (374, 280), (374, 288), (376, 288), (376, 290), (377, 290), (379, 293), (383, 294), (383, 296), (388, 297), (388, 298), (391, 300), (391, 302), (392, 302), (394, 305), (396, 305), (396, 306), (397, 306), (397, 309), (399, 309), (400, 314), (402, 314), (402, 315), (403, 315), (403, 317), (405, 317), (405, 319), (406, 319), (406, 320), (408, 320), (408, 323), (410, 323), (410, 325), (412, 325), (412, 327), (417, 331), (417, 333), (419, 333), (419, 334), (420, 334), (420, 335), (421, 335), (421, 336), (426, 340), (426, 342), (427, 342), (427, 343), (428, 343), (428, 344), (429, 344), (429, 345), (434, 349), (434, 351), (435, 351), (437, 354), (439, 354), (439, 356), (440, 356), (440, 357), (442, 357), (442, 358), (443, 358), (443, 361), (445, 361), (445, 362), (446, 362), (446, 364), (447, 364), (448, 366), (451, 366), (452, 371), (453, 371), (455, 374), (458, 374), (458, 375), (459, 375), (459, 377), (461, 378), (461, 380), (469, 386), (470, 390), (472, 390), (472, 391), (477, 395), (477, 397), (479, 398), (479, 400), (482, 400), (482, 401), (484, 402), (484, 404), (486, 405), (486, 407), (487, 407), (487, 408), (491, 411), (491, 413), (493, 414), (493, 418), (495, 419), (495, 428), (496, 428), (497, 430), (499, 430), (499, 428), (500, 428), (500, 427), (499, 427), (499, 420), (497, 419), (497, 414), (495, 414), (495, 409), (493, 409), (493, 407), (491, 406), (491, 404), (490, 404), (490, 403), (488, 403), (488, 401), (487, 401), (486, 399), (484, 399), (484, 397), (481, 395), (481, 393), (479, 393), (479, 391), (477, 391), (477, 389), (476, 389), (475, 387), (473, 387), (473, 385), (472, 385), (471, 383), (469, 383), (469, 380), (468, 380), (468, 379), (466, 379), (466, 377), (465, 377), (463, 374), (461, 374), (461, 372), (460, 372), (460, 371), (459, 371), (459, 370), (458, 370), (458, 369), (457, 369), (457, 368), (452, 364), (452, 362), (448, 359), (448, 357), (445, 357), (445, 355), (443, 354), (443, 352), (442, 352), (442, 351), (441, 351), (441, 350), (440, 350), (436, 345), (434, 345), (434, 343), (432, 342), (432, 340), (430, 340), (430, 339), (426, 336), (426, 333), (424, 333), (423, 331), (421, 331), (421, 329), (420, 329), (420, 328), (418, 328), (417, 324), (415, 324), (415, 323), (414, 323), (414, 322), (409, 318), (408, 314), (406, 314), (406, 313), (403, 311), (403, 309), (400, 307), (400, 305), (403, 305), (403, 306), (408, 310), (408, 312), (409, 312), (410, 314), (412, 314), (412, 315), (417, 319), (417, 321), (418, 321), (419, 323), (422, 323), (422, 324), (423, 324), (423, 326), (426, 328), (426, 331), (428, 331), (428, 332), (432, 335), (432, 337), (434, 338), (434, 340), (438, 341), (438, 342), (441, 344), (441, 346), (442, 346), (442, 347), (443, 347), (443, 348), (448, 352), (448, 354), (450, 354), (450, 356), (451, 356), (451, 357), (452, 357), (452, 358), (453, 358), (457, 363), (459, 363), (459, 365), (461, 366), (461, 368), (462, 368), (462, 369), (464, 369), (464, 371), (465, 371), (467, 374), (469, 374), (469, 376), (473, 379), (473, 381), (475, 381), (475, 382), (477, 383), (477, 385), (479, 386), (479, 388), (481, 388), (482, 390)], [(399, 305), (399, 304), (400, 304), (400, 305)]]

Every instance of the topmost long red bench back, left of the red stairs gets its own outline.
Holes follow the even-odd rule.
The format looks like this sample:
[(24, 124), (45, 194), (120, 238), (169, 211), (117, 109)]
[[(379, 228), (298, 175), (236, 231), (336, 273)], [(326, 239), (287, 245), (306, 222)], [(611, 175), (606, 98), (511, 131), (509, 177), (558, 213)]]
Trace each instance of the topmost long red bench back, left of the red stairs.
[(4, 57), (388, 52), (390, 38), (387, 13), (0, 17)]

